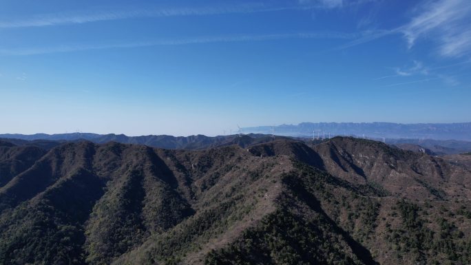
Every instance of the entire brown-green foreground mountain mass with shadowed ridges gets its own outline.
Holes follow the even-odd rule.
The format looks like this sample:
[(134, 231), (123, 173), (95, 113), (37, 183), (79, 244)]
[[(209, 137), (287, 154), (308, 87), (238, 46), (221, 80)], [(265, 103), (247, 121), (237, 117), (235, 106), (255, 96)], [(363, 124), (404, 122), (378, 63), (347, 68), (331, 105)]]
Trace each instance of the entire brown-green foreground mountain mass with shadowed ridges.
[(471, 262), (464, 165), (355, 138), (258, 139), (0, 142), (5, 165), (29, 165), (0, 187), (0, 264)]

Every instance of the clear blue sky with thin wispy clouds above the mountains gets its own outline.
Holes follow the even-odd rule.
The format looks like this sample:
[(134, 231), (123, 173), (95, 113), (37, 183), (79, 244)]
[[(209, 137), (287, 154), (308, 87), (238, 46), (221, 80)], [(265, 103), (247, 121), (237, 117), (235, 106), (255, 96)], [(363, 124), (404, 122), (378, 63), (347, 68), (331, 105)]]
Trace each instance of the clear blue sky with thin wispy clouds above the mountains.
[(471, 1), (0, 2), (0, 133), (471, 114)]

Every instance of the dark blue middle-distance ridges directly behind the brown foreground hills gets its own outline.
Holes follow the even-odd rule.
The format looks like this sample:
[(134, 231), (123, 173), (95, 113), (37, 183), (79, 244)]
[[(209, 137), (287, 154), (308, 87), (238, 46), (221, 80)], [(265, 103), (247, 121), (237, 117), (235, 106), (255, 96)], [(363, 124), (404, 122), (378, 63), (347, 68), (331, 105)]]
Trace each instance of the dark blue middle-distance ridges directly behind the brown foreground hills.
[[(291, 125), (290, 125), (291, 126)], [(300, 126), (300, 125), (298, 125)], [(270, 128), (271, 129), (271, 128)], [(245, 129), (244, 129), (245, 130)], [(295, 138), (293, 136), (280, 136), (280, 130), (276, 129), (275, 139)], [(333, 136), (333, 134), (331, 134)], [(326, 135), (326, 138), (328, 134)], [(296, 140), (304, 140), (306, 143), (312, 143), (312, 136), (295, 138)], [(362, 138), (362, 137), (360, 137)], [(149, 135), (149, 136), (125, 136), (124, 134), (89, 134), (89, 133), (72, 133), (72, 134), (0, 134), (0, 140), (8, 140), (14, 145), (28, 145), (41, 147), (42, 149), (52, 149), (64, 142), (78, 142), (81, 140), (89, 140), (97, 144), (105, 144), (107, 142), (120, 142), (132, 145), (147, 145), (149, 147), (158, 147), (165, 149), (187, 149), (200, 150), (212, 147), (224, 147), (229, 145), (238, 145), (240, 147), (248, 147), (264, 142), (271, 142), (272, 136), (269, 134), (243, 134), (228, 136), (167, 136), (167, 135)], [(378, 138), (374, 138), (379, 140)], [(316, 143), (321, 140), (315, 140)], [(402, 149), (418, 151), (419, 149), (427, 149), (426, 153), (431, 155), (458, 154), (471, 151), (471, 141), (466, 140), (434, 140), (420, 138), (386, 138), (386, 143), (396, 145)], [(413, 145), (413, 146), (412, 146)]]

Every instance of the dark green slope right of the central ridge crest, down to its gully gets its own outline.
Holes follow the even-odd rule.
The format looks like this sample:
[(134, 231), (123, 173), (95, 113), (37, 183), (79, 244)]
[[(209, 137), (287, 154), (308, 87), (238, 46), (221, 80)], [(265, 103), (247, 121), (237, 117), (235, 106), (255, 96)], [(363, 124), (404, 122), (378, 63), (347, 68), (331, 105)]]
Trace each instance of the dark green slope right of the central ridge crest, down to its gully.
[[(377, 264), (322, 209), (312, 191), (325, 183), (318, 172), (303, 176), (300, 167), (282, 176), (278, 209), (248, 229), (234, 244), (211, 251), (206, 264)], [(328, 242), (328, 243), (326, 243)]]

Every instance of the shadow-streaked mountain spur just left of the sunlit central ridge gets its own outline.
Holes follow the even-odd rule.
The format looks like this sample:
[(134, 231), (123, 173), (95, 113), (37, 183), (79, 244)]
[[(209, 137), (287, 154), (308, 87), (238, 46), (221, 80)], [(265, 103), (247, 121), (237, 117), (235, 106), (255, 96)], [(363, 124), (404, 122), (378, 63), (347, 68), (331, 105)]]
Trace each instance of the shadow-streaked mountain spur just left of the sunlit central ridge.
[[(118, 167), (102, 171), (104, 162)], [(110, 142), (97, 149), (94, 168), (109, 181), (85, 227), (88, 264), (109, 264), (193, 214), (174, 191), (173, 173), (150, 147)]]

